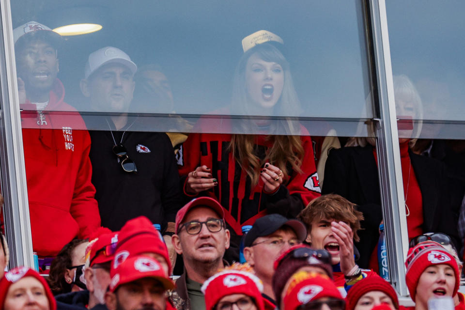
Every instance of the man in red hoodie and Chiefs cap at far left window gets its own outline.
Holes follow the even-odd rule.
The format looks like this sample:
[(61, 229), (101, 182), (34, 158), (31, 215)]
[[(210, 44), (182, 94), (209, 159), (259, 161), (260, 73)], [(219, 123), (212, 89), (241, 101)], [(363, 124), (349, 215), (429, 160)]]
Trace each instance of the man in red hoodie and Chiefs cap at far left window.
[(61, 36), (31, 21), (13, 31), (32, 248), (54, 256), (100, 226), (89, 159), (91, 140), (57, 78)]

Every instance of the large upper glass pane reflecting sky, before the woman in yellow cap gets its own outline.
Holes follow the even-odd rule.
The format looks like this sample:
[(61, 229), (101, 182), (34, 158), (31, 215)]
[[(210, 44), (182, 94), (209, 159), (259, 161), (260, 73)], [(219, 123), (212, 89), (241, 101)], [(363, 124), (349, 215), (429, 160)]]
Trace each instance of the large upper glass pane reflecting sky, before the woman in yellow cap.
[[(133, 129), (183, 132), (190, 131), (204, 114), (298, 117), (313, 135), (326, 135), (328, 127), (345, 136), (367, 135), (363, 122), (373, 117), (373, 111), (362, 8), (357, 1), (264, 5), (260, 1), (142, 0), (135, 5), (117, 0), (67, 5), (20, 0), (11, 6), (14, 27), (31, 20), (51, 29), (83, 22), (102, 25), (100, 31), (63, 37), (58, 51), (58, 78), (66, 102), (83, 116), (128, 111), (143, 120)], [(259, 30), (272, 32), (284, 42), (279, 51), (292, 73), (286, 76), (284, 92), (294, 102), (287, 108), (237, 107), (238, 96), (244, 95), (240, 81), (234, 88), (234, 70), (244, 54), (241, 41)], [(101, 47), (120, 48), (139, 68), (134, 98), (123, 110), (91, 103), (82, 93), (80, 82), (89, 54)], [(257, 95), (265, 99), (279, 91), (267, 94), (272, 91), (269, 87), (257, 87)], [(177, 120), (182, 116), (183, 121), (166, 120), (167, 114)], [(297, 119), (288, 121), (297, 124)], [(327, 121), (337, 122), (328, 125)], [(86, 124), (89, 129), (108, 129), (99, 119)], [(232, 129), (213, 131), (218, 130)]]

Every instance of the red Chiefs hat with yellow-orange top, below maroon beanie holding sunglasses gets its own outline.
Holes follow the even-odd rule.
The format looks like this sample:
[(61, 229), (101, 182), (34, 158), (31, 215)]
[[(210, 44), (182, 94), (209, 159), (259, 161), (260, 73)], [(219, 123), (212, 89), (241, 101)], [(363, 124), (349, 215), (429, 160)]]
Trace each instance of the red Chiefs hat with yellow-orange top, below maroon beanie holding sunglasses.
[(336, 284), (326, 276), (299, 271), (289, 281), (282, 300), (284, 304), (282, 310), (295, 310), (300, 305), (323, 297), (343, 299)]

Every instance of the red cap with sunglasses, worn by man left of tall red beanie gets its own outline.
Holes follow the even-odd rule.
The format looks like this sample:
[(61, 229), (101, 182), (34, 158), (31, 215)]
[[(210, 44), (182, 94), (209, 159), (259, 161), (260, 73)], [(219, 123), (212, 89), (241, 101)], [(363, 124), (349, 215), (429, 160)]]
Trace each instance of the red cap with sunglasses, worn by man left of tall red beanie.
[(108, 263), (115, 257), (118, 232), (113, 233), (108, 228), (100, 229), (100, 234), (94, 234), (86, 247), (86, 265)]

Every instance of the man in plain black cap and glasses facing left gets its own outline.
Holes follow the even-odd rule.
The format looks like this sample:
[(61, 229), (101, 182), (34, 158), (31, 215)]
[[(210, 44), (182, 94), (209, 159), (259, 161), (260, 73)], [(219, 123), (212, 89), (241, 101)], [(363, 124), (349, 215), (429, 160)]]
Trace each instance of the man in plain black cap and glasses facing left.
[(305, 225), (295, 219), (270, 214), (255, 221), (244, 241), (244, 257), (263, 282), (265, 308), (273, 309), (273, 275), (275, 260), (288, 248), (302, 243), (307, 236)]

